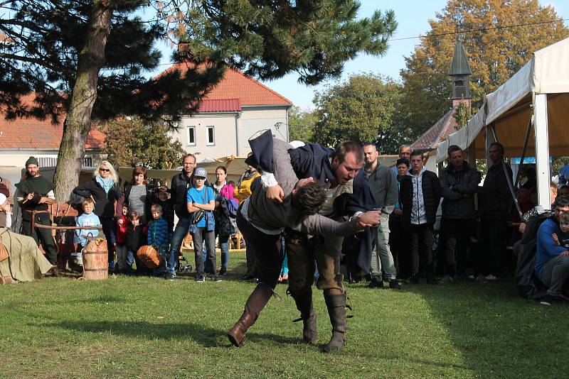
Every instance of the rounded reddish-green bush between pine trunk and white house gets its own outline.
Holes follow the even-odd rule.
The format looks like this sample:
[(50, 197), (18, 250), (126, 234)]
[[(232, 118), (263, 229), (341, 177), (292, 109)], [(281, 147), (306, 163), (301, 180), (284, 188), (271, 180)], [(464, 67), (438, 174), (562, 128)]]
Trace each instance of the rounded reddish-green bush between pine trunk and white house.
[(105, 123), (102, 153), (115, 165), (163, 169), (176, 166), (186, 154), (180, 141), (172, 140), (161, 121), (145, 121), (138, 116), (120, 117)]

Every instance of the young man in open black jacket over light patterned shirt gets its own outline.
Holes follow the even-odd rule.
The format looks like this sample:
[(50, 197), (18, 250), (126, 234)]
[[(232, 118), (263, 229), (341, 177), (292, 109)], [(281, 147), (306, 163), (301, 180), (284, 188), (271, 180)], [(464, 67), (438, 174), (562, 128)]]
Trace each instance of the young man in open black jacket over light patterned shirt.
[(403, 209), (403, 227), (408, 229), (409, 251), (413, 261), (410, 281), (419, 282), (419, 258), (427, 271), (427, 282), (435, 284), (432, 269), (432, 226), (440, 202), (440, 182), (435, 172), (422, 165), (422, 154), (411, 153), (412, 169), (403, 177), (399, 198)]

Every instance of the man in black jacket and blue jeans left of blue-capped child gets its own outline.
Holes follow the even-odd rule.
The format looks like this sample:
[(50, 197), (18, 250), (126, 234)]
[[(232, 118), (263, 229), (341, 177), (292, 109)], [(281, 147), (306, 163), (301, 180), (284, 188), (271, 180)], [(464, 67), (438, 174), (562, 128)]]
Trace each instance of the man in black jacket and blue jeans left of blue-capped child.
[[(193, 154), (186, 154), (182, 166), (181, 172), (172, 177), (170, 187), (170, 201), (176, 216), (178, 216), (178, 224), (176, 224), (176, 229), (174, 229), (174, 234), (172, 234), (168, 264), (166, 265), (166, 279), (168, 280), (176, 278), (176, 265), (178, 265), (178, 257), (180, 256), (180, 246), (190, 229), (190, 214), (188, 213), (186, 203), (186, 193), (188, 188), (196, 185), (196, 180), (193, 177), (193, 169), (196, 168), (196, 157)], [(207, 181), (206, 185), (208, 185)]]

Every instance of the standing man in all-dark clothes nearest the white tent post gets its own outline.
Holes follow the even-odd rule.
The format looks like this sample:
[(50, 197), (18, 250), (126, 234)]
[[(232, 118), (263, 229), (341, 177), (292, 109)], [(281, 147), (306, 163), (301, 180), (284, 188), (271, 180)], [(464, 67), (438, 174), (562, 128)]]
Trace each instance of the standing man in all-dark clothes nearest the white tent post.
[(508, 184), (512, 172), (503, 160), (504, 146), (491, 143), (488, 153), (492, 165), (486, 172), (480, 201), (480, 252), (475, 272), (479, 281), (496, 280), (504, 270), (507, 221), (513, 202)]

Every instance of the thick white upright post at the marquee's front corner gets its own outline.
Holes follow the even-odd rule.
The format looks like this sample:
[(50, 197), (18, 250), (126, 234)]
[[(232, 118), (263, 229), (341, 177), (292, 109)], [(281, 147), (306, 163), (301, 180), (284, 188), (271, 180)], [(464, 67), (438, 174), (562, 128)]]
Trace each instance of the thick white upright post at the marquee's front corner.
[(549, 133), (547, 121), (547, 94), (533, 92), (533, 114), (535, 117), (533, 135), (536, 141), (536, 172), (538, 180), (538, 204), (543, 209), (551, 207), (549, 198)]

